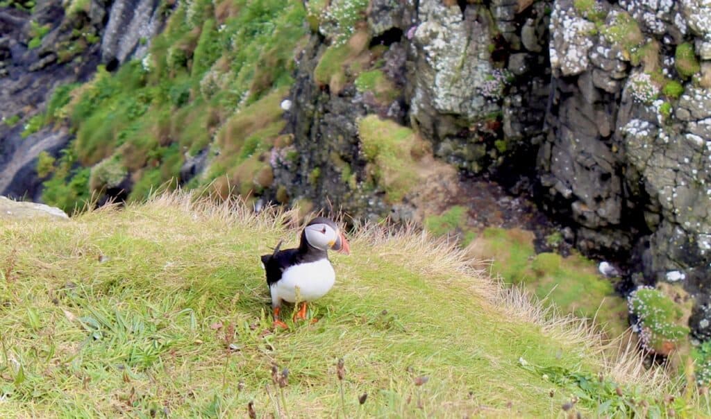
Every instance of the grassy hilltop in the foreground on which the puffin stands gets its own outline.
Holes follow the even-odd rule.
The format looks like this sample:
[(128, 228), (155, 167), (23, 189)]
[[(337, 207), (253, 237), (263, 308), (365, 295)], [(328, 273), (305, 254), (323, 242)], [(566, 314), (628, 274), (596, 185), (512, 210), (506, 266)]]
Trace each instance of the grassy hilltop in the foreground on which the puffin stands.
[(296, 244), (293, 218), (173, 194), (4, 222), (0, 416), (701, 414), (662, 371), (606, 359), (583, 322), (415, 232), (357, 229), (319, 321), (274, 332), (257, 256)]

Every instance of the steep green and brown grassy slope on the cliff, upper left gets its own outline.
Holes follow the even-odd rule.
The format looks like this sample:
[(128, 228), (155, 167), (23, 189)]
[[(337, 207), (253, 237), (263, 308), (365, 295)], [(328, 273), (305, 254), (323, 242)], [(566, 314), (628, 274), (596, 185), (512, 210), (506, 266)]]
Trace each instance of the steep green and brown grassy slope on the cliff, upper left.
[[(262, 162), (283, 126), (279, 102), (308, 33), (305, 16), (296, 0), (180, 2), (145, 58), (115, 73), (100, 67), (85, 85), (55, 91), (42, 121), (66, 119), (76, 139), (43, 199), (72, 211), (123, 173), (129, 198), (141, 200), (160, 185), (174, 187), (181, 165), (200, 153), (208, 153), (208, 169), (188, 187), (218, 178), (222, 194), (264, 187), (271, 174)], [(104, 179), (102, 163), (87, 183), (85, 170), (107, 161), (125, 170)]]

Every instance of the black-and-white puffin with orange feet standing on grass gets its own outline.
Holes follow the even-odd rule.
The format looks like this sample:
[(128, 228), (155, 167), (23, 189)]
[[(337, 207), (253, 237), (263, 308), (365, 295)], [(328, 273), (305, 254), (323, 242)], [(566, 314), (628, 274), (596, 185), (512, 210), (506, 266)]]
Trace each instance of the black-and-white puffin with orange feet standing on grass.
[(296, 303), (298, 299), (301, 307), (294, 310), (294, 320), (306, 320), (306, 304), (326, 295), (336, 281), (328, 250), (350, 254), (351, 246), (338, 225), (326, 217), (306, 224), (296, 249), (279, 250), (281, 244), (279, 241), (274, 252), (261, 259), (272, 295), (274, 327), (285, 329), (287, 325), (279, 320), (282, 302)]

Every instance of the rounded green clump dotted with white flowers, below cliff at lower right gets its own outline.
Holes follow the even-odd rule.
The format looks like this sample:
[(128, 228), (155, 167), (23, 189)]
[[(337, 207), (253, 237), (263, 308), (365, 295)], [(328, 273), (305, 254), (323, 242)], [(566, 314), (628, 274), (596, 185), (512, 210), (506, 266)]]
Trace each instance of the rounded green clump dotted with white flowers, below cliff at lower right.
[(637, 288), (627, 303), (630, 314), (636, 317), (633, 330), (639, 333), (642, 346), (648, 351), (668, 355), (676, 342), (689, 333), (688, 327), (678, 325), (680, 308), (661, 290)]

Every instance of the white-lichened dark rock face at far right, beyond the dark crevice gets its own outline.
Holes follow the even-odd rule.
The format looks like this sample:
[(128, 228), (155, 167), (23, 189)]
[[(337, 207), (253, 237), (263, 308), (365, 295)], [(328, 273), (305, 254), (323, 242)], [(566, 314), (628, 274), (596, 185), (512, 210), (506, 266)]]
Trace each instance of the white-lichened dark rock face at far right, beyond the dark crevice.
[(577, 227), (579, 248), (631, 256), (638, 283), (683, 283), (698, 297), (692, 330), (707, 338), (711, 9), (702, 3), (553, 3), (551, 129), (538, 168), (545, 205)]

